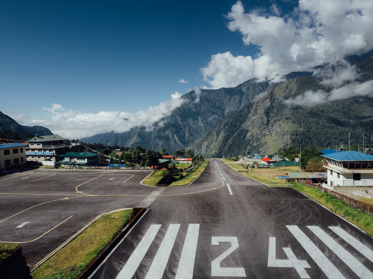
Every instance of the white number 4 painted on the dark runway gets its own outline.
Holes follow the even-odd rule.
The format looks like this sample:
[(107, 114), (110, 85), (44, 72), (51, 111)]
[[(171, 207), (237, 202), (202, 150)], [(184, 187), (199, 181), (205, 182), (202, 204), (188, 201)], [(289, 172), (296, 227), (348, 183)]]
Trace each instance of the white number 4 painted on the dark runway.
[(294, 267), (301, 278), (311, 278), (305, 271), (305, 268), (311, 268), (307, 261), (298, 260), (293, 251), (288, 247), (282, 248), (282, 250), (285, 252), (286, 256), (288, 256), (288, 260), (276, 259), (276, 237), (270, 237), (268, 247), (269, 267)]

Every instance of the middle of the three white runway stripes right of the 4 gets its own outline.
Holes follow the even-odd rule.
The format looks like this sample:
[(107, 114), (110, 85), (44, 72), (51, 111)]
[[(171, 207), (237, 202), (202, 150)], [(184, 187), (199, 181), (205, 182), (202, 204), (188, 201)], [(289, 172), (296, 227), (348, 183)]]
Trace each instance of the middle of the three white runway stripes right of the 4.
[(326, 244), (350, 269), (361, 279), (372, 279), (373, 273), (361, 264), (354, 256), (339, 245), (332, 237), (317, 226), (307, 226), (320, 240)]

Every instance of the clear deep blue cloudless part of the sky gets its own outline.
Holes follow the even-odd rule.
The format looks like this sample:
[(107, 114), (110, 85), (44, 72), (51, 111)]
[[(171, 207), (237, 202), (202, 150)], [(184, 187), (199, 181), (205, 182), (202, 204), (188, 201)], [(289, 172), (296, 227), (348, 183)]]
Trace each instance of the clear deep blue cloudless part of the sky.
[(255, 55), (226, 27), (236, 1), (175, 2), (0, 1), (0, 110), (39, 119), (58, 103), (136, 113), (208, 86), (200, 68), (213, 54)]

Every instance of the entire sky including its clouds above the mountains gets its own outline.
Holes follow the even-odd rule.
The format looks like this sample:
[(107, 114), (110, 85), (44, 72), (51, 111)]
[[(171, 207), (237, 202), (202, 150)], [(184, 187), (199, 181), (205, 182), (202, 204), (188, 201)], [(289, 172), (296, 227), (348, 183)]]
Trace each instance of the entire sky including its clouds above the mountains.
[(372, 3), (341, 1), (0, 1), (0, 111), (79, 137), (158, 121), (196, 87), (279, 82), (372, 48)]

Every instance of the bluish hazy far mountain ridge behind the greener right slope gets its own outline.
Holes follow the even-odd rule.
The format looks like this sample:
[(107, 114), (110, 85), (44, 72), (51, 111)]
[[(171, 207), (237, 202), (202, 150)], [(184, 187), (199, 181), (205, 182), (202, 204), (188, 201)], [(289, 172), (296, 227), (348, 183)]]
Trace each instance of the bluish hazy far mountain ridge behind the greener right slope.
[(191, 144), (231, 113), (239, 110), (268, 87), (267, 82), (252, 79), (233, 88), (201, 90), (200, 101), (194, 102), (195, 92), (182, 96), (185, 103), (162, 119), (163, 126), (154, 125), (152, 131), (136, 127), (129, 132), (113, 132), (82, 138), (85, 142), (101, 142), (128, 147), (142, 146), (152, 150), (173, 152)]

